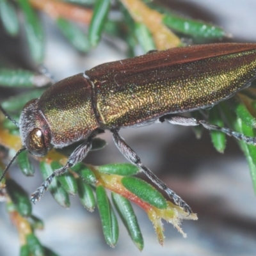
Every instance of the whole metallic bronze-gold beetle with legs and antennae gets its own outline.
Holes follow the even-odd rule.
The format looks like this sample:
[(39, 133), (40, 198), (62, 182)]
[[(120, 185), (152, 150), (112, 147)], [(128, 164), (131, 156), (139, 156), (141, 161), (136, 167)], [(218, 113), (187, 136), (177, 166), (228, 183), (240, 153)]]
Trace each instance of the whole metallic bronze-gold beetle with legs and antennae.
[[(141, 163), (118, 131), (122, 127), (164, 121), (201, 124), (206, 129), (222, 131), (256, 145), (256, 138), (205, 120), (177, 115), (228, 99), (250, 86), (255, 77), (256, 44), (208, 44), (153, 51), (104, 63), (52, 85), (22, 110), (17, 124), (23, 145), (19, 152), (29, 150), (34, 156), (45, 156), (52, 147), (62, 148), (80, 140), (83, 143), (68, 157), (63, 168), (55, 170), (36, 189), (31, 200), (40, 200), (55, 176), (86, 157), (92, 138), (102, 130), (109, 130), (120, 152), (190, 214), (189, 205)], [(12, 120), (3, 108), (1, 110)]]

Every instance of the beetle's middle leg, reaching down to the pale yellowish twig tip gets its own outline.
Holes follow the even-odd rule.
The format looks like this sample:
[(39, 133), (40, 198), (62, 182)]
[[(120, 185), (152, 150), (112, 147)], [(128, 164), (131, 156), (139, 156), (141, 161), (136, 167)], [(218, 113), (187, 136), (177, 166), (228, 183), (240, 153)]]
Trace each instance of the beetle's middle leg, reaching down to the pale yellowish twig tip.
[(191, 208), (189, 207), (184, 200), (180, 198), (174, 191), (167, 187), (167, 185), (160, 180), (154, 173), (152, 173), (143, 163), (140, 161), (140, 157), (132, 150), (129, 145), (125, 143), (125, 141), (120, 137), (118, 132), (115, 129), (112, 129), (111, 132), (113, 133), (113, 140), (115, 141), (116, 147), (120, 150), (120, 152), (129, 160), (131, 163), (138, 166), (146, 175), (147, 177), (152, 180), (159, 188), (163, 189), (167, 195), (173, 199), (175, 204), (182, 207), (185, 212), (189, 214), (192, 213)]

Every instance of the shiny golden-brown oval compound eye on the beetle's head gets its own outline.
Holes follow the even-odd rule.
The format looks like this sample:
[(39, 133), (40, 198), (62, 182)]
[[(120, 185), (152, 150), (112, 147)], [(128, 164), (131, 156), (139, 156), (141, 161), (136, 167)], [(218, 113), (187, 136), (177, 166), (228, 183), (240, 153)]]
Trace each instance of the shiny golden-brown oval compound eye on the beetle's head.
[(47, 153), (47, 148), (45, 147), (44, 134), (43, 132), (35, 128), (30, 132), (26, 146), (31, 152), (31, 154), (35, 156), (45, 156)]

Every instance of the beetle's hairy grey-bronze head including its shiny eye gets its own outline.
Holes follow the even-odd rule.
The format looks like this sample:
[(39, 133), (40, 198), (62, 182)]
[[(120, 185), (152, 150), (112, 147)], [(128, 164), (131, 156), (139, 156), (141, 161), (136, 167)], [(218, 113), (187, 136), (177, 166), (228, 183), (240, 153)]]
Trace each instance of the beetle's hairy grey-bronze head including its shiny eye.
[(51, 129), (38, 108), (38, 99), (30, 100), (20, 115), (22, 145), (34, 156), (45, 156), (52, 148)]

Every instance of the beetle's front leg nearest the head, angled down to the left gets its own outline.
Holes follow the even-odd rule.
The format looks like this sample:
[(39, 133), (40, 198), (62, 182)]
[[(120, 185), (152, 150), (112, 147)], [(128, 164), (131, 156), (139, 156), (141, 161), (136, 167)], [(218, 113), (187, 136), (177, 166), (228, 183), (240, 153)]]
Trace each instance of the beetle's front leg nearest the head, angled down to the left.
[(52, 179), (55, 176), (60, 176), (63, 173), (66, 172), (66, 170), (72, 166), (74, 166), (75, 164), (81, 162), (84, 157), (87, 156), (88, 152), (90, 151), (90, 149), (92, 148), (92, 138), (97, 134), (97, 132), (93, 132), (86, 141), (84, 141), (84, 143), (82, 143), (81, 145), (79, 145), (74, 152), (72, 152), (72, 154), (70, 155), (70, 157), (68, 157), (68, 161), (67, 164), (65, 164), (65, 166), (63, 166), (60, 169), (55, 170), (51, 175), (49, 175), (49, 177), (47, 177), (47, 179), (45, 179), (45, 181), (42, 183), (42, 185), (36, 189), (36, 191), (31, 195), (31, 202), (35, 203), (35, 201), (39, 201), (42, 196), (44, 195), (45, 191), (48, 189), (49, 185), (52, 182)]

